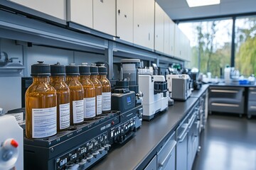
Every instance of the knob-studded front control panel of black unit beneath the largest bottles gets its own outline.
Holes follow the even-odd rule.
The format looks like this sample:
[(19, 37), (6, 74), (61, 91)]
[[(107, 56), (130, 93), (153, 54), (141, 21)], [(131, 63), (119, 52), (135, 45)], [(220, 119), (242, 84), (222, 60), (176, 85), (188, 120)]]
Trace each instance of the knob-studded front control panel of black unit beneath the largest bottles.
[(110, 149), (108, 133), (104, 132), (55, 159), (56, 169), (87, 169)]

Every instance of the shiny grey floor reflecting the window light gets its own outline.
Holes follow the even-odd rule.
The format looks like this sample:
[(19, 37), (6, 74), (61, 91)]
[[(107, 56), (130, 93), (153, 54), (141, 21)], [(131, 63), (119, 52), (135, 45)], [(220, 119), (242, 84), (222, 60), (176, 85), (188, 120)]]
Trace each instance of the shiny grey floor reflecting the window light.
[(213, 114), (193, 170), (256, 170), (256, 118)]

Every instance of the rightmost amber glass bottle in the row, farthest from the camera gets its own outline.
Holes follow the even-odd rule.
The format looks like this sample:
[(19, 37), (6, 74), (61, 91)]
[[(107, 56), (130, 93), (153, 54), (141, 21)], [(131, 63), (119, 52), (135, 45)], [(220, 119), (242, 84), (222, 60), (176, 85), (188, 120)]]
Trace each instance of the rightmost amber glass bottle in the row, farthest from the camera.
[(98, 67), (98, 79), (102, 84), (102, 113), (110, 113), (111, 111), (111, 84), (107, 79), (107, 68), (104, 64)]

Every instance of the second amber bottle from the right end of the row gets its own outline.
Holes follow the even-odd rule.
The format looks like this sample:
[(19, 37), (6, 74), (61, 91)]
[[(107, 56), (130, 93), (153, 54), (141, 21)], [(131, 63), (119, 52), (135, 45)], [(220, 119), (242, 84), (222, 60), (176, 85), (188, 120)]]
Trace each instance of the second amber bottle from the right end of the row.
[(96, 94), (96, 115), (102, 114), (102, 84), (97, 79), (98, 68), (96, 64), (92, 64), (90, 66), (90, 80), (92, 81), (93, 85), (95, 86), (95, 94)]

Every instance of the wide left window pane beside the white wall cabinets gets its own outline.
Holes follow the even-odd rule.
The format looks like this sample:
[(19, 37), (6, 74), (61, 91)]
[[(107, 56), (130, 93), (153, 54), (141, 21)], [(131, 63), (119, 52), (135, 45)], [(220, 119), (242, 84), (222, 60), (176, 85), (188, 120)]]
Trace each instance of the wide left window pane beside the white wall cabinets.
[(180, 23), (178, 27), (191, 40), (191, 67), (212, 77), (223, 75), (223, 69), (230, 65), (232, 19)]

